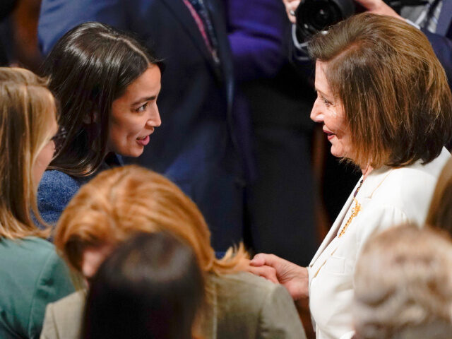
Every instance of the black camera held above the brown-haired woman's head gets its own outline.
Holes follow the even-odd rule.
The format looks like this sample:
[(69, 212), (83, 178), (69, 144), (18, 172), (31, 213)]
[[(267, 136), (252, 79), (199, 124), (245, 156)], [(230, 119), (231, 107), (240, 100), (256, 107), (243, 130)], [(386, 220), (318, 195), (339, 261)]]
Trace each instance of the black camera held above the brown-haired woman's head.
[[(422, 6), (425, 0), (384, 0), (397, 13), (404, 6)], [(316, 32), (326, 30), (365, 8), (355, 4), (353, 0), (302, 0), (295, 11), (297, 19), (297, 38), (299, 41), (309, 39)]]

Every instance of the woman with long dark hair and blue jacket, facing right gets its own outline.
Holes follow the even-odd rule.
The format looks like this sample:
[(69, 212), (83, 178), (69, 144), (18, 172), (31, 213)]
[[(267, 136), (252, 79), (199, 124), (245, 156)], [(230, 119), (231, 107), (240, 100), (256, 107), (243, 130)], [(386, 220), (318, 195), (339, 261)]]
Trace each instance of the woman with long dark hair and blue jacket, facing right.
[(57, 222), (82, 184), (138, 157), (160, 126), (157, 96), (162, 64), (133, 37), (102, 23), (67, 32), (44, 61), (49, 88), (61, 105), (66, 141), (44, 173), (38, 207)]

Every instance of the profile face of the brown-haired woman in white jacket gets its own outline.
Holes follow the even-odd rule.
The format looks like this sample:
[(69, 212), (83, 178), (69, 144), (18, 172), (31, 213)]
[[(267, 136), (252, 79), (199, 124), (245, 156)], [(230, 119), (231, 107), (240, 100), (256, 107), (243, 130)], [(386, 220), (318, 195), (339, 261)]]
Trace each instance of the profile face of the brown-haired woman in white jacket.
[(352, 142), (350, 127), (345, 121), (342, 102), (331, 92), (324, 70), (326, 63), (316, 62), (317, 99), (311, 110), (311, 119), (323, 124), (323, 132), (331, 143), (331, 154), (335, 157), (350, 157)]

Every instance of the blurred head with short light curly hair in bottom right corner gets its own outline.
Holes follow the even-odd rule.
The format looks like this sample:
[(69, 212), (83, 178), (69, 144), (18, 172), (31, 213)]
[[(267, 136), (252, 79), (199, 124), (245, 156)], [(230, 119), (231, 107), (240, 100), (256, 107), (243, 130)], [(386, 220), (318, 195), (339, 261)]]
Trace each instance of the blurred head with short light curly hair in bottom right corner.
[(452, 338), (452, 242), (413, 225), (369, 240), (355, 271), (357, 339)]

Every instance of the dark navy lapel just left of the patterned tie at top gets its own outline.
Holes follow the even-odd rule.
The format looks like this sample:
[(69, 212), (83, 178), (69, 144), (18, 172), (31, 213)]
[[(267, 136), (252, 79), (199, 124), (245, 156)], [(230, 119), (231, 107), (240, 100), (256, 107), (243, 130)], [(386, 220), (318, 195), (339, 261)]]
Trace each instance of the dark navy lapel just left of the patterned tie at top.
[[(210, 55), (207, 49), (206, 42), (204, 42), (201, 32), (199, 32), (198, 25), (196, 24), (193, 16), (184, 4), (182, 0), (162, 0), (162, 2), (169, 7), (174, 16), (182, 23), (184, 30), (188, 33), (191, 40), (193, 40), (196, 48), (201, 52), (206, 59), (212, 71), (215, 73), (215, 61), (213, 61), (212, 55)], [(215, 25), (214, 25), (215, 27)], [(215, 27), (216, 28), (216, 27)], [(176, 33), (177, 34), (177, 33)]]

